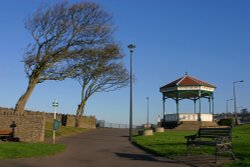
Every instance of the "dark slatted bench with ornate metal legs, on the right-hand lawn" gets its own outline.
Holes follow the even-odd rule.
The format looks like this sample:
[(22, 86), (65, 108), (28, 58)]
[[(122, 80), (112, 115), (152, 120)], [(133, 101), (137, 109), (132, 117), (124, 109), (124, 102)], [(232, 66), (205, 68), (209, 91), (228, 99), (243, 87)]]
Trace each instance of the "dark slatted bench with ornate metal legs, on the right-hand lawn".
[(212, 146), (215, 148), (215, 157), (222, 153), (230, 153), (236, 159), (232, 150), (231, 127), (201, 127), (195, 135), (185, 136), (187, 139), (187, 155), (194, 147)]

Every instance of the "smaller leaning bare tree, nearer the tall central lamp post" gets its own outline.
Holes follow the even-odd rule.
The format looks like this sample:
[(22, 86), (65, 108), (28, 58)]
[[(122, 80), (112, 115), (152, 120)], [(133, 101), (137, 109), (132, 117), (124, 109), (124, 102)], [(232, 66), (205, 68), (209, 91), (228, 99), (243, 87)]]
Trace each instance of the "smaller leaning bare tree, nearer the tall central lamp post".
[[(78, 66), (75, 79), (82, 87), (81, 102), (76, 110), (76, 127), (85, 111), (87, 100), (96, 92), (108, 92), (127, 86), (129, 75), (121, 63), (123, 55), (117, 45), (89, 51), (89, 63)], [(82, 63), (80, 63), (82, 64)]]

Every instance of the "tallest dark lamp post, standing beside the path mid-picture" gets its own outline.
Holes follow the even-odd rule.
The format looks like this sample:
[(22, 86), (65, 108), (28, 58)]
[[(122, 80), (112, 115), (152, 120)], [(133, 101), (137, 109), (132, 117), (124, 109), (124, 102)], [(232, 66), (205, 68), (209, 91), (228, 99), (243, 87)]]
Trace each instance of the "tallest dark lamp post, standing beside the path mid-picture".
[(135, 45), (128, 45), (130, 51), (130, 100), (129, 100), (129, 141), (132, 142), (132, 129), (133, 129), (133, 59), (132, 54), (135, 48)]

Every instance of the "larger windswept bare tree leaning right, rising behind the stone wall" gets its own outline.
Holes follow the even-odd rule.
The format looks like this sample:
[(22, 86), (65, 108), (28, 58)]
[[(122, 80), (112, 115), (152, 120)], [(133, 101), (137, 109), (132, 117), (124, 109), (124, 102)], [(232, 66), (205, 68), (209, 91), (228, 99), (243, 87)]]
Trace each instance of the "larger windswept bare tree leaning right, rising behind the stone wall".
[(84, 63), (78, 60), (85, 59), (86, 52), (112, 44), (111, 19), (92, 2), (63, 2), (40, 8), (30, 16), (25, 27), (34, 43), (28, 45), (23, 58), (29, 84), (15, 112), (23, 112), (36, 84), (71, 76), (72, 62)]

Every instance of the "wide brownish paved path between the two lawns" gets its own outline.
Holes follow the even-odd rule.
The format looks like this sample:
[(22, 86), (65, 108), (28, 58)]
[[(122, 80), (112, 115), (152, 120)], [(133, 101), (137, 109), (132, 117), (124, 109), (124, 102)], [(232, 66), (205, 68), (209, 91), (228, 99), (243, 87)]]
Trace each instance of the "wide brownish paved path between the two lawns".
[(63, 138), (65, 152), (43, 158), (1, 160), (1, 167), (187, 167), (153, 156), (128, 142), (128, 130), (97, 129)]

